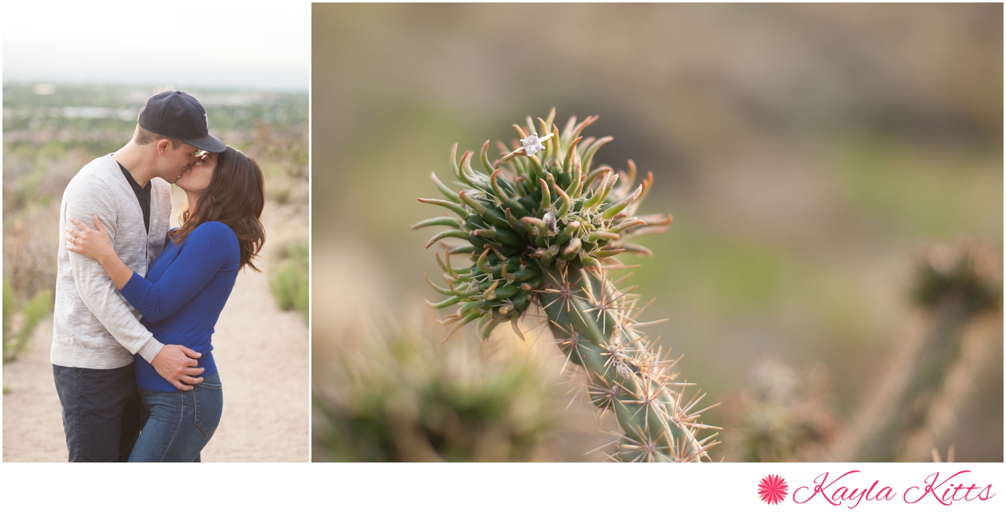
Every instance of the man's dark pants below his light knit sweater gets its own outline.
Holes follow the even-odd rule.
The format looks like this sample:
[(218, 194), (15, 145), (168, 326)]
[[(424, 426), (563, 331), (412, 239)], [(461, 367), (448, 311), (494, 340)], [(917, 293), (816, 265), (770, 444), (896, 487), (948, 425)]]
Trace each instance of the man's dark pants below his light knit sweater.
[(52, 364), (69, 462), (126, 462), (140, 435), (133, 364), (115, 369)]

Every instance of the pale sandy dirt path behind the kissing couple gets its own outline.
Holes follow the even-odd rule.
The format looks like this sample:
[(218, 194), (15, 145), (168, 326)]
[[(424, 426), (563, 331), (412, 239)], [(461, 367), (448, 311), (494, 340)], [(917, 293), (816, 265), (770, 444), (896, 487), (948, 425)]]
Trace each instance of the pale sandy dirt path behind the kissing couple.
[[(220, 426), (202, 452), (205, 462), (309, 460), (307, 323), (300, 312), (276, 306), (268, 277), (272, 252), (307, 237), (302, 211), (267, 204), (267, 260), (258, 264), (266, 273), (238, 274), (216, 323), (213, 356), (224, 404)], [(3, 396), (4, 462), (66, 461), (49, 363), (51, 342), (52, 321), (46, 319), (35, 330), (31, 347), (3, 366), (3, 384), (10, 390)]]

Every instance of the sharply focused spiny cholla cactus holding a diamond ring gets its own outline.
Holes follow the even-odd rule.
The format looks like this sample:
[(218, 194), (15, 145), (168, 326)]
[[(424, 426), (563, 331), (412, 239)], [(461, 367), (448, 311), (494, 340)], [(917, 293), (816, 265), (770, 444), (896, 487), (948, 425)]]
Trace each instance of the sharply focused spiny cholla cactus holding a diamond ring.
[[(454, 324), (450, 333), (477, 320), (482, 338), (506, 321), (521, 335), (521, 315), (532, 304), (540, 306), (567, 361), (585, 370), (594, 405), (618, 419), (622, 434), (611, 457), (665, 462), (708, 458), (712, 436), (703, 441), (695, 436), (706, 427), (696, 422), (704, 409), (691, 413), (701, 397), (684, 402), (686, 384), (672, 381), (673, 362), (640, 331), (645, 323), (636, 321), (642, 310), (637, 297), (608, 276), (609, 270), (623, 267), (616, 255), (651, 254), (629, 242), (634, 236), (663, 232), (671, 222), (670, 216), (636, 216), (653, 174), (634, 188), (632, 161), (628, 172), (592, 169), (598, 149), (612, 138), (580, 136), (597, 116), (579, 124), (571, 117), (559, 133), (554, 114), (553, 108), (547, 119), (538, 118), (540, 137), (530, 117), (525, 126), (515, 124), (519, 145), (515, 140), (510, 150), (499, 144), (497, 162), (489, 160), (487, 141), (479, 155), (482, 171), (473, 169), (471, 152), (459, 164), (455, 145), (451, 167), (461, 191), (432, 175), (447, 200), (418, 200), (457, 217), (433, 218), (412, 228), (449, 227), (427, 248), (449, 237), (469, 244), (451, 248), (445, 260), (437, 254), (447, 287), (429, 276), (427, 281), (447, 299), (428, 303), (437, 308), (461, 304), (444, 320)], [(452, 266), (450, 256), (458, 254), (470, 255), (474, 264)], [(675, 386), (681, 390), (672, 391)]]

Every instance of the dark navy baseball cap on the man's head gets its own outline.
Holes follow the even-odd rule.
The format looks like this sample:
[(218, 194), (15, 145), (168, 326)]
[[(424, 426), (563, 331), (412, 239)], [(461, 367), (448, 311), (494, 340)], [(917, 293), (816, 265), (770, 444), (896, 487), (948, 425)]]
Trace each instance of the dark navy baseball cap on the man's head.
[(147, 98), (136, 122), (154, 134), (182, 140), (199, 150), (219, 154), (227, 149), (222, 141), (209, 135), (206, 109), (186, 92), (164, 91)]

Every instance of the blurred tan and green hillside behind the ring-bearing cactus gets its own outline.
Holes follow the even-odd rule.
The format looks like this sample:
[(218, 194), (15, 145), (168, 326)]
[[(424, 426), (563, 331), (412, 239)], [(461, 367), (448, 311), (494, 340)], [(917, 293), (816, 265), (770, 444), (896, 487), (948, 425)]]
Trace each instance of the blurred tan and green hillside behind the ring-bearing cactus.
[[(1002, 5), (313, 9), (313, 236), (368, 260), (399, 314), (438, 297), (433, 229), (408, 230), (438, 215), (415, 201), (437, 196), (430, 172), (447, 180), (455, 142), (509, 142), (553, 105), (559, 126), (601, 115), (584, 136), (615, 141), (596, 163), (656, 176), (641, 213), (674, 224), (625, 259), (643, 264), (629, 280), (712, 402), (757, 362), (820, 363), (847, 419), (908, 323), (914, 252), (975, 239), (1001, 255)], [(321, 314), (316, 348), (333, 342)], [(1001, 345), (992, 358), (960, 461), (1002, 460)]]

